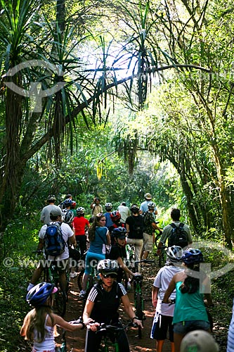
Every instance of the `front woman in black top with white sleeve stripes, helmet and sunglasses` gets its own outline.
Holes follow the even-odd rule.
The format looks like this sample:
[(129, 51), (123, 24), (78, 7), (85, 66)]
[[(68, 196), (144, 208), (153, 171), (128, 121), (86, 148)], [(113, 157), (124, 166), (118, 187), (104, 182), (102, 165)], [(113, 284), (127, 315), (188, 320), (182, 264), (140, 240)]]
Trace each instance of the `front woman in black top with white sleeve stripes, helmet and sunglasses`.
[[(123, 304), (129, 318), (136, 324), (143, 327), (141, 320), (138, 320), (130, 304), (129, 297), (122, 284), (116, 282), (119, 265), (117, 260), (100, 260), (98, 263), (98, 273), (100, 282), (94, 285), (84, 307), (83, 321), (89, 324), (86, 329), (85, 352), (98, 352), (101, 334), (96, 334), (98, 325), (105, 323), (122, 327), (119, 322), (118, 308)], [(90, 322), (90, 318), (93, 322)], [(124, 329), (118, 338), (119, 351), (130, 352), (129, 341)]]

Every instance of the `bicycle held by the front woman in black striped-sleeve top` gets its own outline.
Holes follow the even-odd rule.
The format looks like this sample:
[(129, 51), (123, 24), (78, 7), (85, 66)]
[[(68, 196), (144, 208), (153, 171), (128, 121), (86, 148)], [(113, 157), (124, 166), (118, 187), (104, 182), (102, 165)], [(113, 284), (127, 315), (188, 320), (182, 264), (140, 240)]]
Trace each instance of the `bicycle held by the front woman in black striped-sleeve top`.
[(123, 327), (117, 327), (115, 325), (106, 325), (104, 323), (100, 324), (96, 334), (103, 334), (103, 343), (100, 346), (100, 351), (102, 352), (121, 352), (118, 344), (119, 333), (125, 330), (127, 327), (137, 327), (138, 325), (133, 322), (128, 322)]

